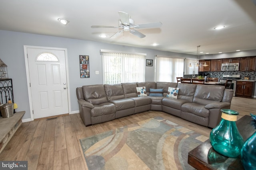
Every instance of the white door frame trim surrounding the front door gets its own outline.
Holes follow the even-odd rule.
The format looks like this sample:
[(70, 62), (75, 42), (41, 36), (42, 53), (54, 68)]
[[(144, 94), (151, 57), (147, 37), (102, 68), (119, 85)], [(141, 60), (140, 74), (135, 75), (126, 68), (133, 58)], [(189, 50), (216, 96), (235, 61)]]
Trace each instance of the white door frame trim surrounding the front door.
[(70, 90), (69, 90), (69, 87), (70, 87), (70, 86), (69, 86), (69, 76), (68, 76), (68, 54), (67, 54), (67, 49), (64, 49), (64, 48), (38, 47), (38, 46), (24, 45), (24, 57), (25, 57), (25, 66), (26, 66), (26, 77), (27, 77), (27, 86), (28, 86), (28, 100), (29, 100), (29, 108), (30, 108), (31, 121), (34, 120), (34, 114), (33, 114), (31, 87), (30, 87), (30, 76), (29, 76), (29, 68), (28, 68), (28, 51), (27, 51), (27, 48), (51, 49), (51, 50), (64, 50), (64, 51), (65, 51), (66, 77), (67, 77), (67, 90), (68, 90), (68, 113), (71, 114)]

